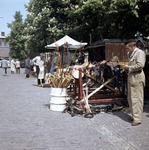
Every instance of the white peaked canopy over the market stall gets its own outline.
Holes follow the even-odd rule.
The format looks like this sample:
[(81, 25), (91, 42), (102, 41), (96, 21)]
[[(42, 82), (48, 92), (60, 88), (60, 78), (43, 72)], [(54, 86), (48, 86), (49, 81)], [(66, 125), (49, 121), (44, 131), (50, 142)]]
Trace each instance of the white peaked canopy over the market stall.
[(87, 45), (87, 43), (80, 43), (80, 42), (72, 39), (68, 35), (65, 35), (62, 39), (60, 39), (50, 45), (45, 46), (45, 48), (55, 49), (56, 47), (60, 47), (60, 46), (64, 47), (64, 45), (66, 48), (69, 48), (69, 49), (77, 49), (77, 48), (84, 47), (85, 45)]

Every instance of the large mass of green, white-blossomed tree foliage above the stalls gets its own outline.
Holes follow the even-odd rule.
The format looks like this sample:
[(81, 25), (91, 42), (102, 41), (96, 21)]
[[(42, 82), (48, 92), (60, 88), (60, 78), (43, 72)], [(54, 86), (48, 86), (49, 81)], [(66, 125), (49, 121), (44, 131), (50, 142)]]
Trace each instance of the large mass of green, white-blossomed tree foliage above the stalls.
[(25, 20), (26, 48), (36, 53), (69, 35), (78, 41), (149, 35), (149, 0), (32, 0)]

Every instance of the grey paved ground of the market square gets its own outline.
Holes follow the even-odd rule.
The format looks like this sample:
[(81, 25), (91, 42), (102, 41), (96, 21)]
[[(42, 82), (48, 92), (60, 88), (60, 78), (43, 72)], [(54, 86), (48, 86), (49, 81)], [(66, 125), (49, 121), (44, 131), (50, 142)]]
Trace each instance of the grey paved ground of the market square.
[[(149, 104), (132, 127), (122, 111), (92, 119), (49, 109), (50, 87), (0, 68), (0, 150), (149, 150)], [(146, 100), (146, 103), (149, 103)]]

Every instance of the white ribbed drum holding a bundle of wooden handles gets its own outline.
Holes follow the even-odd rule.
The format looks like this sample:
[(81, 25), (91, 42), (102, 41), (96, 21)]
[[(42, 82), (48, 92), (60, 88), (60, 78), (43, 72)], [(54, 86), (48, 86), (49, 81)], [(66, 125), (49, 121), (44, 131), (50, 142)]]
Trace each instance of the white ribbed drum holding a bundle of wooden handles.
[(51, 88), (50, 110), (63, 111), (66, 108), (67, 88)]

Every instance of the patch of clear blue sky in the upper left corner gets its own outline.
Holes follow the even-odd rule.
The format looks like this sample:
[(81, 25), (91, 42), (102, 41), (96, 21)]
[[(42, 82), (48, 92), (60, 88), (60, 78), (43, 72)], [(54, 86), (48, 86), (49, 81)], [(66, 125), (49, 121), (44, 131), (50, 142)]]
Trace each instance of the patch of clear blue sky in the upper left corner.
[(5, 36), (10, 33), (7, 23), (14, 21), (16, 11), (20, 11), (23, 21), (25, 20), (27, 11), (24, 5), (29, 2), (30, 0), (0, 0), (0, 36), (1, 32), (5, 32)]

